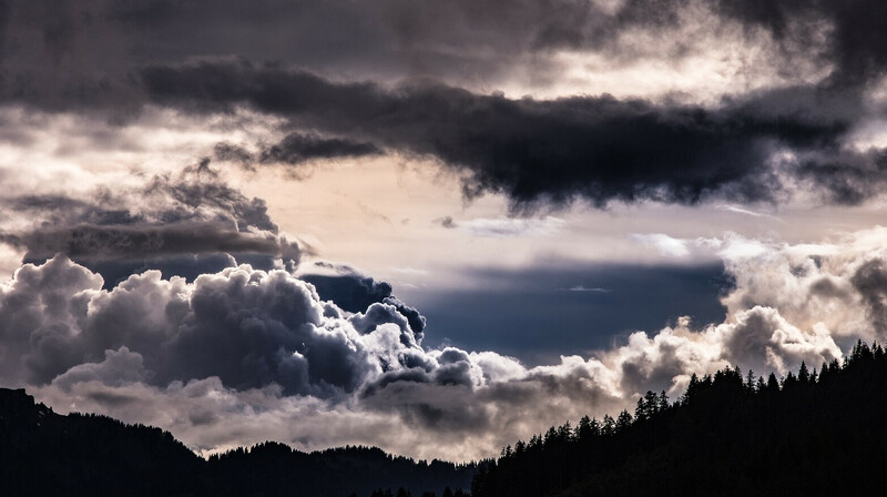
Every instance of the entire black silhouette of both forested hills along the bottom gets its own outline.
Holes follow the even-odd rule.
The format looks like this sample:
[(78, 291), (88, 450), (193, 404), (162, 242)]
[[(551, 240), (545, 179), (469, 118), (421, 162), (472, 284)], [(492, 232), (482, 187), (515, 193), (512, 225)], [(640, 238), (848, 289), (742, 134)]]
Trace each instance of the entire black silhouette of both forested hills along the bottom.
[[(208, 459), (160, 428), (61, 416), (0, 389), (3, 495), (520, 497), (846, 495), (887, 463), (887, 352), (856, 344), (784, 378), (724, 368), (693, 376), (671, 403), (583, 417), (453, 465), (375, 447), (312, 454), (267, 442)], [(472, 478), (473, 477), (473, 478)], [(469, 489), (471, 494), (466, 490)], [(395, 489), (395, 490), (392, 490)]]

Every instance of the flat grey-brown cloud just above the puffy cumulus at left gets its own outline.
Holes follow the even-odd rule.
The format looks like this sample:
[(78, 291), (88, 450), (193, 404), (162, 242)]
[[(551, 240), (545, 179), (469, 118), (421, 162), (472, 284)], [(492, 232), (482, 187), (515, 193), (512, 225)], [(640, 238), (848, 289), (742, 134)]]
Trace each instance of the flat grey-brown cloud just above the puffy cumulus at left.
[(130, 274), (156, 268), (193, 280), (249, 263), (294, 268), (299, 243), (278, 233), (265, 202), (228, 186), (206, 162), (177, 174), (161, 173), (132, 189), (98, 187), (92, 197), (69, 194), (11, 196), (2, 204), (30, 217), (0, 241), (24, 252), (24, 262), (57, 253), (99, 271), (113, 286)]

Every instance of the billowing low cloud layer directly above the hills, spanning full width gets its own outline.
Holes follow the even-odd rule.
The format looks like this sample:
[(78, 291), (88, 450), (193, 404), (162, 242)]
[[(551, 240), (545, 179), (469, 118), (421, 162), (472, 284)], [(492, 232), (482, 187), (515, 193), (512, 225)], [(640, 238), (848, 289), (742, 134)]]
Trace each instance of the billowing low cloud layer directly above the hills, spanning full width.
[[(57, 408), (155, 423), (204, 450), (274, 438), (467, 459), (552, 423), (631, 408), (646, 389), (674, 398), (693, 373), (786, 374), (883, 339), (887, 254), (874, 245), (885, 237), (876, 229), (742, 252), (731, 247), (753, 242), (727, 236), (718, 250), (736, 287), (723, 323), (681, 318), (532, 368), (495, 352), (424, 348), (409, 316), (378, 298), (389, 290), (367, 278), (351, 276), (369, 304), (349, 312), (285, 271), (241, 266), (193, 283), (147, 272), (106, 291), (57, 256), (3, 286), (0, 367), (7, 384)], [(351, 286), (317, 282), (357, 305)]]

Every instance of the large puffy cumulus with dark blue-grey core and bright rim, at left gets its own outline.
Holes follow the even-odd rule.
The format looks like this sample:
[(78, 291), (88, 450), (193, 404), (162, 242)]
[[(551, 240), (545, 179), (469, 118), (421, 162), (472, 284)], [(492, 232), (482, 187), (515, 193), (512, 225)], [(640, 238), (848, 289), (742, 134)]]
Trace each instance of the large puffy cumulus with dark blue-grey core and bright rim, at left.
[(192, 285), (147, 273), (105, 293), (98, 275), (57, 256), (16, 278), (0, 303), (3, 369), (38, 384), (72, 367), (83, 374), (82, 363), (94, 371), (111, 354), (144, 364), (132, 374), (152, 384), (215, 375), (236, 388), (275, 382), (288, 394), (328, 396), (375, 367), (357, 334), (283, 271), (227, 270)]

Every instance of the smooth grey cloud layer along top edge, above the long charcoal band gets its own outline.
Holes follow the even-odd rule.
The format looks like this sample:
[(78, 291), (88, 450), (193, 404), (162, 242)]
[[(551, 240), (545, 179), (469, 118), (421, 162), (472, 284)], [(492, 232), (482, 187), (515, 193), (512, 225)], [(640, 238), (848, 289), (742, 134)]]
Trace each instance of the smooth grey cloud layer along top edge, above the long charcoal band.
[[(683, 24), (704, 20), (738, 23), (750, 38), (769, 33), (786, 54), (835, 63), (840, 80), (859, 81), (880, 71), (886, 44), (877, 0), (6, 0), (0, 9), (3, 94), (60, 105), (112, 95), (124, 104), (134, 67), (207, 54), (448, 81), (496, 79), (530, 59), (544, 79), (557, 75), (546, 62), (554, 51), (624, 63), (655, 50), (623, 47), (622, 33), (680, 36)], [(689, 51), (666, 57), (677, 61)]]

